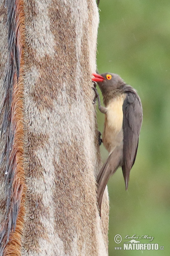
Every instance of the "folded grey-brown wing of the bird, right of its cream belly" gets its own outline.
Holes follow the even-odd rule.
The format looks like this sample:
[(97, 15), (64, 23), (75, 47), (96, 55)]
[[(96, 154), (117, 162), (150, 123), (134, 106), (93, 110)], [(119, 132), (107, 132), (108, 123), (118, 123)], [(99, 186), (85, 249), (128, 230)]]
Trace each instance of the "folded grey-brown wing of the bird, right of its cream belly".
[(126, 93), (123, 103), (124, 165), (122, 166), (126, 189), (130, 170), (135, 162), (139, 133), (142, 124), (142, 104), (135, 91)]

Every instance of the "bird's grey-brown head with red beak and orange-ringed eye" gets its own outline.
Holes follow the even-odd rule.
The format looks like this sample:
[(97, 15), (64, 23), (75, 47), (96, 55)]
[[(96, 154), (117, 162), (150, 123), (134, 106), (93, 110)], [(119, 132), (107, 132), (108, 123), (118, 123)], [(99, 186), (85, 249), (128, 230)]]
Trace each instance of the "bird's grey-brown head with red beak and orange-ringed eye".
[(97, 82), (100, 90), (102, 91), (102, 94), (109, 93), (112, 91), (117, 91), (121, 89), (125, 84), (123, 79), (117, 74), (104, 73), (99, 75), (99, 74), (93, 73), (92, 75), (94, 76), (92, 78), (92, 81)]

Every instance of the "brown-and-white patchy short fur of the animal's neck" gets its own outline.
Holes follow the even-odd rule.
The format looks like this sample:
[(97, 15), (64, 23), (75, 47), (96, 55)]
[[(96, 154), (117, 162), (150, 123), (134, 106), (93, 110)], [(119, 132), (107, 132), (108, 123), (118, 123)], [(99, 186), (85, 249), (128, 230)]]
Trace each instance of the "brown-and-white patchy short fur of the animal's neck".
[[(26, 187), (24, 211), (22, 216), (18, 213), (23, 228), (17, 255), (105, 256), (108, 193), (106, 189), (100, 219), (96, 176), (102, 164), (91, 90), (91, 73), (96, 70), (96, 1), (24, 0), (23, 5), (25, 38), (20, 65)], [(2, 99), (8, 38), (4, 3), (0, 8)], [(4, 143), (3, 135), (1, 152)], [(0, 167), (1, 223), (7, 202), (5, 165), (4, 159)], [(6, 255), (15, 255), (15, 246), (13, 254)]]

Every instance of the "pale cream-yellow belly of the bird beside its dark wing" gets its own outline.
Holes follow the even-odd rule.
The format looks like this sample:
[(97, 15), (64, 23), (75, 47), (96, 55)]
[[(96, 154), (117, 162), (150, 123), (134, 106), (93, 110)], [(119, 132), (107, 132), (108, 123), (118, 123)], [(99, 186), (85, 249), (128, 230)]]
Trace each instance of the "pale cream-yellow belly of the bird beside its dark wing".
[(123, 102), (124, 95), (107, 106), (103, 131), (103, 145), (111, 153), (116, 147), (123, 148)]

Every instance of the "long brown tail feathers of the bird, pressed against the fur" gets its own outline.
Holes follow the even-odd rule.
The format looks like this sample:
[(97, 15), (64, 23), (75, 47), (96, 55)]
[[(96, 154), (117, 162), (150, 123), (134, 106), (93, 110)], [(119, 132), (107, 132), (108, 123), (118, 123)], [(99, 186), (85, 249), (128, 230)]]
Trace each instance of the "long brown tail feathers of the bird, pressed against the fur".
[(99, 213), (101, 216), (101, 205), (102, 205), (102, 198), (103, 193), (108, 183), (108, 180), (112, 174), (114, 174), (118, 167), (120, 166), (120, 159), (122, 156), (122, 152), (114, 150), (110, 156), (107, 158), (105, 164), (103, 164), (102, 169), (100, 170), (97, 176), (97, 203), (99, 207)]

